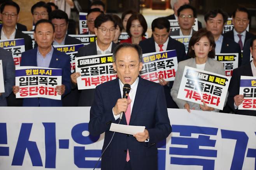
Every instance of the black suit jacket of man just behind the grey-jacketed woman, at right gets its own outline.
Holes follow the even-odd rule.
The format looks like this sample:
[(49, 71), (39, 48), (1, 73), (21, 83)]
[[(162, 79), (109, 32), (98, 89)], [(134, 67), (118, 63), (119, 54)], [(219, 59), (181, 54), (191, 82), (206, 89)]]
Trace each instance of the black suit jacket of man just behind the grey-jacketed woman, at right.
[(223, 42), (221, 46), (221, 53), (238, 53), (238, 67), (242, 63), (242, 53), (240, 45), (234, 40), (223, 36)]

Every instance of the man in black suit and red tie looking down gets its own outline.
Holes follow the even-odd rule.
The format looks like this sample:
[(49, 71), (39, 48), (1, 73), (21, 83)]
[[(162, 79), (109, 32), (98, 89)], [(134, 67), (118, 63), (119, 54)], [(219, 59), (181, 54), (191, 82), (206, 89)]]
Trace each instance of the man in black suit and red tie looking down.
[[(139, 43), (142, 48), (143, 54), (149, 52), (158, 52), (165, 50), (176, 50), (178, 62), (188, 59), (185, 53), (185, 46), (183, 43), (172, 39), (169, 36), (170, 33), (170, 23), (164, 17), (154, 19), (152, 24), (152, 37), (147, 40), (143, 40)], [(160, 48), (161, 47), (161, 48)], [(173, 85), (172, 82), (167, 82), (163, 78), (159, 79), (161, 85), (165, 89), (165, 97), (168, 108), (178, 108), (176, 103), (172, 100), (170, 95), (170, 90)]]

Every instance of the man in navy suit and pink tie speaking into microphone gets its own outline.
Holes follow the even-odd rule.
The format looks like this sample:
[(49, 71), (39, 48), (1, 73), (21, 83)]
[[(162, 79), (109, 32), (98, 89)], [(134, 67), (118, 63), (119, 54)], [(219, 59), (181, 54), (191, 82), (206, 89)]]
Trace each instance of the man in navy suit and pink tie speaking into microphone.
[[(139, 76), (142, 69), (142, 50), (139, 45), (123, 43), (113, 53), (113, 68), (118, 78), (95, 90), (90, 111), (89, 132), (105, 132), (102, 150), (107, 147), (113, 132), (111, 122), (118, 123), (120, 113), (126, 112), (120, 124), (145, 126), (144, 132), (132, 135), (116, 133), (102, 156), (102, 170), (156, 170), (156, 143), (170, 134), (172, 127), (167, 113), (163, 87)], [(124, 84), (131, 85), (128, 99), (121, 99)], [(128, 123), (129, 122), (129, 123)]]

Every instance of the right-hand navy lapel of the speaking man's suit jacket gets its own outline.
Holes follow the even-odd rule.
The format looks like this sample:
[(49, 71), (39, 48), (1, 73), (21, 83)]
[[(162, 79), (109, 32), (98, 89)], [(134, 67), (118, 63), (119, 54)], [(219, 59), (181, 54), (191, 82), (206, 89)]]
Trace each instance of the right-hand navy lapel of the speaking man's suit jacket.
[(135, 100), (133, 102), (132, 114), (130, 119), (130, 125), (136, 120), (136, 116), (139, 114), (142, 103), (145, 101), (145, 94), (147, 94), (147, 86), (145, 81), (139, 76), (139, 83), (136, 90)]

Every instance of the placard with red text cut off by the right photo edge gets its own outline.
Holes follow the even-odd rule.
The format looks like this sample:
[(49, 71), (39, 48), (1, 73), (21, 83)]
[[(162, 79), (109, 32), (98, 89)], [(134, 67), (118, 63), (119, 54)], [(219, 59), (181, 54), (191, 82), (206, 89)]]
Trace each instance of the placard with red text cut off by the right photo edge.
[(239, 94), (244, 96), (239, 110), (256, 110), (256, 77), (241, 76)]

